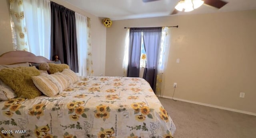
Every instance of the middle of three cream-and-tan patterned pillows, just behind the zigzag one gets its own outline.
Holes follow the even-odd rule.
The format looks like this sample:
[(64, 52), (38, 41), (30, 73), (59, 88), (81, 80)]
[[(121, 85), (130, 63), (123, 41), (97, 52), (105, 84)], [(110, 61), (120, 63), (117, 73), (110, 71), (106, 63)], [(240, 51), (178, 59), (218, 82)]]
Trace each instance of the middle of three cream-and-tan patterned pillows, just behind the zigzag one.
[(46, 73), (42, 73), (41, 76), (48, 78), (52, 83), (54, 83), (58, 87), (59, 92), (63, 91), (64, 89), (70, 86), (68, 79), (60, 74), (49, 75)]

